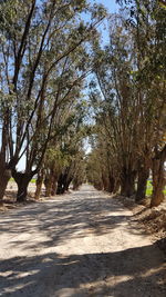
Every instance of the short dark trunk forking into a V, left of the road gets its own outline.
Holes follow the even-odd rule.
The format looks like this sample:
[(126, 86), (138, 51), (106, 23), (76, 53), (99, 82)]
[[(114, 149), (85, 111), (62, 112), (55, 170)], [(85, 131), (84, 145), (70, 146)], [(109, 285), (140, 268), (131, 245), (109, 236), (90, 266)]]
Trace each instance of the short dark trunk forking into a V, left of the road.
[(17, 201), (23, 202), (27, 200), (28, 186), (33, 177), (33, 174), (32, 172), (22, 174), (22, 172), (17, 172), (15, 170), (13, 170), (12, 177), (14, 178), (18, 185)]

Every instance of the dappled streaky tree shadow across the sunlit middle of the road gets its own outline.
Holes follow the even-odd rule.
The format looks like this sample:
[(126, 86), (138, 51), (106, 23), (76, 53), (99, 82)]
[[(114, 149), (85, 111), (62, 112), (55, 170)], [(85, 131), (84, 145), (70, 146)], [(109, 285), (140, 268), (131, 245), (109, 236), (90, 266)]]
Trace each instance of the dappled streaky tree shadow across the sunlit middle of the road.
[[(122, 211), (120, 202), (113, 202), (102, 192), (79, 191), (72, 198), (71, 195), (54, 197), (2, 216), (0, 232), (13, 235), (10, 241), (13, 248), (18, 241), (25, 249), (53, 247), (69, 239), (84, 238), (89, 232), (95, 236), (108, 234), (126, 221)], [(29, 234), (31, 238), (20, 239), (22, 234)], [(46, 239), (35, 242), (37, 234)]]

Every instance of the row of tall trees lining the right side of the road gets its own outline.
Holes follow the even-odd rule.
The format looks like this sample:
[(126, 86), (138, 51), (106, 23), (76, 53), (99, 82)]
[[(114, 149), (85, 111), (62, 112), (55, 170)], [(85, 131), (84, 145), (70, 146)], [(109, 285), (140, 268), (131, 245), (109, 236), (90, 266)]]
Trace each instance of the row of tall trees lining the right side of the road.
[(108, 44), (94, 49), (90, 98), (96, 123), (87, 176), (98, 189), (121, 187), (121, 195), (141, 201), (152, 172), (151, 205), (157, 206), (166, 184), (166, 6), (124, 2), (110, 19)]

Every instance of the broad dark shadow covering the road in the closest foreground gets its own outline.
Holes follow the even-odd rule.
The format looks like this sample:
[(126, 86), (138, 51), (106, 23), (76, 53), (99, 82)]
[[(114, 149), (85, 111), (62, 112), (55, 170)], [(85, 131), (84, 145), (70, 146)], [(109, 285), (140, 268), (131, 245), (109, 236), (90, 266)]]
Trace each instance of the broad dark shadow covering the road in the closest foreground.
[(154, 245), (68, 257), (14, 257), (0, 264), (0, 296), (164, 297), (162, 260)]

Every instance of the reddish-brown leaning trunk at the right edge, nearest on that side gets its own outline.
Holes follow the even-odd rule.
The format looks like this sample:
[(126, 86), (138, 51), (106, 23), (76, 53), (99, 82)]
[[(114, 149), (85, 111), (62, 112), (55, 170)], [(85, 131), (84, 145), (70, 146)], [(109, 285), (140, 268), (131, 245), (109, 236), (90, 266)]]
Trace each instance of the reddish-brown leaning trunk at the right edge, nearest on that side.
[(158, 206), (163, 202), (164, 200), (164, 187), (166, 185), (166, 179), (165, 179), (165, 172), (164, 172), (164, 162), (166, 160), (166, 146), (153, 159), (153, 195), (152, 195), (152, 201), (151, 201), (151, 207)]

